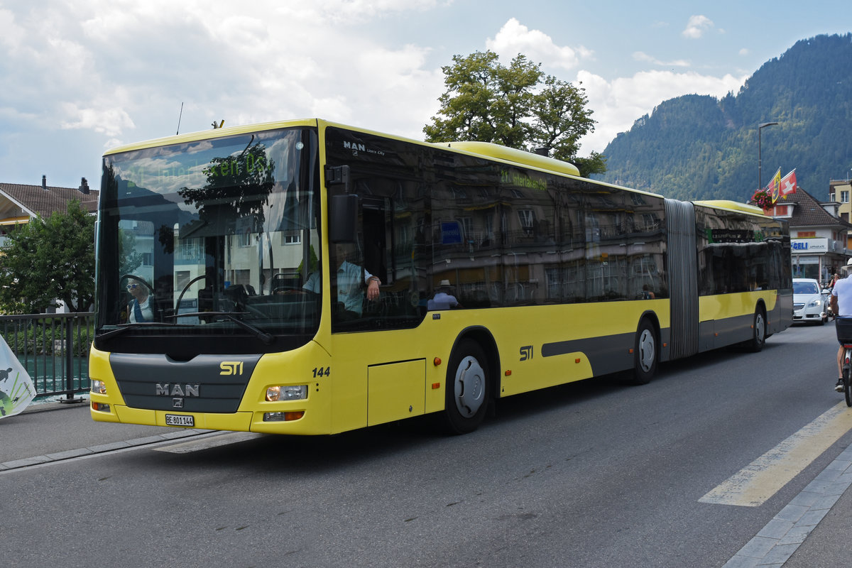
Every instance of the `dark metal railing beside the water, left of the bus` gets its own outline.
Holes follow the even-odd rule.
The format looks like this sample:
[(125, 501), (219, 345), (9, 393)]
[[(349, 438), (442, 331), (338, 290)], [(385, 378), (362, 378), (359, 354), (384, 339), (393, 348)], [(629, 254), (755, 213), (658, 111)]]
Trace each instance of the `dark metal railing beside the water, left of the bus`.
[(78, 401), (89, 390), (89, 347), (95, 313), (0, 316), (0, 334), (24, 366), (36, 396), (64, 395)]

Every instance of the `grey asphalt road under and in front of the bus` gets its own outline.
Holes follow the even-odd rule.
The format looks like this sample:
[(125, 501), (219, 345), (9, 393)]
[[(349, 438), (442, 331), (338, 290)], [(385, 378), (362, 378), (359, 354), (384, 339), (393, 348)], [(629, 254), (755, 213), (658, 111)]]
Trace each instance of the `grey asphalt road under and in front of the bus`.
[[(458, 437), (434, 433), (428, 420), (289, 438), (101, 424), (84, 407), (28, 412), (0, 420), (0, 559), (756, 565), (740, 551), (763, 542), (776, 516), (836, 467), (852, 434), (759, 506), (699, 500), (836, 410), (836, 345), (831, 325), (796, 327), (762, 353), (664, 364), (642, 387), (607, 376), (504, 399)], [(852, 564), (850, 495), (787, 566)]]

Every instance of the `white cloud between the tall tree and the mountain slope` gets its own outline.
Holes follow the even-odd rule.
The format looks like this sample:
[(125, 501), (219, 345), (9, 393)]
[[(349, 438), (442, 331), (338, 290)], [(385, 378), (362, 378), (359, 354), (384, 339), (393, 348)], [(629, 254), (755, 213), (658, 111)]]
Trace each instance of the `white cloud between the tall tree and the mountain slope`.
[(639, 72), (633, 77), (607, 81), (599, 75), (580, 71), (577, 80), (589, 97), (588, 108), (597, 121), (595, 132), (586, 135), (581, 155), (592, 150), (603, 152), (609, 141), (619, 132), (630, 129), (636, 118), (653, 112), (654, 106), (664, 100), (686, 94), (711, 95), (721, 98), (729, 91), (740, 89), (747, 76), (711, 77), (696, 72), (671, 71)]

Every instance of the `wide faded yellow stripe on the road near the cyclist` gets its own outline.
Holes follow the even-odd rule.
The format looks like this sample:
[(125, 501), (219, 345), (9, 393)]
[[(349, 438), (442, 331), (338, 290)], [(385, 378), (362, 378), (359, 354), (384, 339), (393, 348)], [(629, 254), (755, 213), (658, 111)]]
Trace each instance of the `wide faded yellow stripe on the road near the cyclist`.
[(826, 410), (814, 422), (776, 445), (722, 485), (699, 499), (703, 503), (759, 507), (852, 429), (852, 410), (845, 402)]

